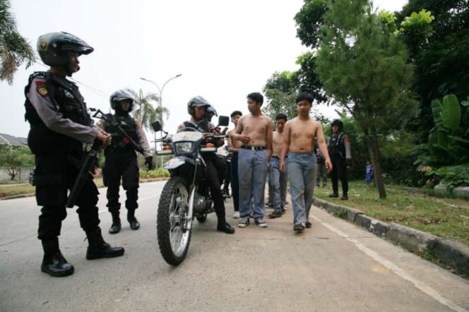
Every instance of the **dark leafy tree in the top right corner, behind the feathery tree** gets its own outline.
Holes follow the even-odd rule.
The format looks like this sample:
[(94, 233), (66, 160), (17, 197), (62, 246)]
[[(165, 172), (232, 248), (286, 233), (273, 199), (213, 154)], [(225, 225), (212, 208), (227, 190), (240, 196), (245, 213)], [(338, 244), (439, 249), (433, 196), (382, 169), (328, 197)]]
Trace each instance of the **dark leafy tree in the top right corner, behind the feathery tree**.
[[(414, 13), (422, 9), (434, 16), (431, 29), (425, 27), (425, 16)], [(415, 64), (413, 89), (420, 100), (419, 114), (408, 128), (417, 131), (420, 143), (425, 143), (434, 126), (432, 100), (447, 94), (459, 99), (469, 95), (469, 1), (409, 0), (397, 17)]]

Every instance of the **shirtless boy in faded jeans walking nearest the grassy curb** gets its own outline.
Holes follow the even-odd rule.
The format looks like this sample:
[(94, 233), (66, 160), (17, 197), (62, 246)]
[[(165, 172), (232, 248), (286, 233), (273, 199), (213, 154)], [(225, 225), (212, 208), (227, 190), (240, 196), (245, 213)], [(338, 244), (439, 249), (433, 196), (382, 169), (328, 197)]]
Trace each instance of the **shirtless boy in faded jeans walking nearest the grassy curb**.
[(286, 168), (290, 179), (290, 193), (293, 205), (293, 230), (303, 232), (310, 228), (309, 210), (316, 181), (316, 155), (314, 138), (325, 159), (328, 172), (332, 170), (322, 125), (309, 116), (314, 97), (309, 93), (297, 96), (298, 116), (285, 124), (283, 149), (280, 157), (280, 170), (285, 170), (285, 157), (288, 153)]

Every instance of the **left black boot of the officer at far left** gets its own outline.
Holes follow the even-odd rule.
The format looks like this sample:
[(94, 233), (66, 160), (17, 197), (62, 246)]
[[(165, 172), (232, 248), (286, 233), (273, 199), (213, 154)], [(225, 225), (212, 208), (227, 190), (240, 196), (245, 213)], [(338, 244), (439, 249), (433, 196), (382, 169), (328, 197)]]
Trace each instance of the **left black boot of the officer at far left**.
[(42, 258), (41, 271), (51, 276), (62, 277), (73, 274), (73, 265), (62, 256), (59, 249), (59, 239), (43, 239), (42, 248), (44, 258)]

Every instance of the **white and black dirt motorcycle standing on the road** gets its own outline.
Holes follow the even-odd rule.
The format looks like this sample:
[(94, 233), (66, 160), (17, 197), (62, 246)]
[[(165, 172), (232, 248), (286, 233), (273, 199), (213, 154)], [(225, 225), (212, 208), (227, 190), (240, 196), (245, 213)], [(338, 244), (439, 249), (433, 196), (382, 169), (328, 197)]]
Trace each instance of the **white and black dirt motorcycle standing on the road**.
[[(220, 116), (218, 126), (227, 126), (229, 122), (229, 117)], [(152, 128), (162, 131), (159, 121), (155, 121)], [(179, 265), (189, 250), (194, 218), (203, 223), (207, 215), (215, 211), (202, 155), (215, 153), (217, 148), (210, 140), (225, 138), (225, 135), (202, 133), (195, 124), (185, 126), (173, 136), (163, 132), (165, 137), (157, 141), (166, 146), (158, 150), (157, 155), (174, 154), (174, 157), (163, 165), (171, 177), (163, 187), (158, 203), (158, 246), (167, 263)]]

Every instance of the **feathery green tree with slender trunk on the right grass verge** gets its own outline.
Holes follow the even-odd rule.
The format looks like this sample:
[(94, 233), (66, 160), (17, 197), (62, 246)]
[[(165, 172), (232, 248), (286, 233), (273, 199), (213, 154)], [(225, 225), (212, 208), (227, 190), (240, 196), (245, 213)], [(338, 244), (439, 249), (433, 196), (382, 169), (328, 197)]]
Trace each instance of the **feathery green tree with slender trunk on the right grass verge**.
[(379, 197), (386, 197), (379, 136), (412, 116), (413, 67), (396, 26), (384, 23), (367, 0), (328, 4), (316, 70), (326, 93), (352, 114), (367, 140)]

